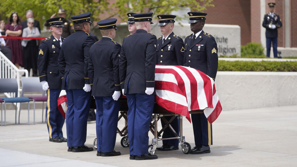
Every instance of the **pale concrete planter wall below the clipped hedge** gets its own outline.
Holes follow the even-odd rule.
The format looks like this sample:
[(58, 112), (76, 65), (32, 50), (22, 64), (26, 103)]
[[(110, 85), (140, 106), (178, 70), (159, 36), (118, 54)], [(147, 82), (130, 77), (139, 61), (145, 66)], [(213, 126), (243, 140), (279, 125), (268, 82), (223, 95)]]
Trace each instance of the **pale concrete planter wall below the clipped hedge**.
[(223, 110), (297, 105), (297, 72), (218, 71), (215, 85)]

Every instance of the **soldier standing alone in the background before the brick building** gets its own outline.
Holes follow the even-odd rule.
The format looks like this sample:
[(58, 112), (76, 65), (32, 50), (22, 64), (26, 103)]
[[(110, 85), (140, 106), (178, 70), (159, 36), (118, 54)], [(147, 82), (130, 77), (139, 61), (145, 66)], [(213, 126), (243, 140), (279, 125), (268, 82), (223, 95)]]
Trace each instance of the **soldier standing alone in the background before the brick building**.
[(266, 28), (266, 56), (270, 57), (270, 48), (272, 42), (273, 56), (274, 58), (278, 57), (278, 28), (282, 27), (282, 20), (278, 14), (274, 13), (275, 3), (268, 3), (269, 13), (264, 16), (262, 26)]

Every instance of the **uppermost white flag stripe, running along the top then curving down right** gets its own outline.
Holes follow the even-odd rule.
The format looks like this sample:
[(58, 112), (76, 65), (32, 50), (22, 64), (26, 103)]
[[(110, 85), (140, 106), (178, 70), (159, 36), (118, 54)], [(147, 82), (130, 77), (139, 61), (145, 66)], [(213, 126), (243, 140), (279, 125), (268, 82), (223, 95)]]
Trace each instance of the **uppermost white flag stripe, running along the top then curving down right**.
[[(187, 75), (183, 72), (183, 70), (179, 69), (176, 66), (156, 66), (156, 68), (173, 69), (181, 76), (185, 84), (188, 110), (191, 111), (191, 84), (190, 84), (190, 80), (188, 79)], [(159, 96), (159, 97), (162, 97), (162, 96)]]

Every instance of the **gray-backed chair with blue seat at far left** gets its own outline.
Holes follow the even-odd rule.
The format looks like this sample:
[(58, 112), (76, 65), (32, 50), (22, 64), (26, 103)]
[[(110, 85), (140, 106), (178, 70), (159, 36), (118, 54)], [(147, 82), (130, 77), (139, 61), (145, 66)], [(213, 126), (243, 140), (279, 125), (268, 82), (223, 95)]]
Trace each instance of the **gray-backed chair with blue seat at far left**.
[[(29, 101), (28, 97), (18, 97), (18, 83), (16, 79), (0, 79), (0, 93), (15, 93), (15, 97), (2, 97), (4, 102), (4, 126), (6, 126), (6, 103), (16, 103), (15, 105), (15, 123), (16, 123), (16, 110), (17, 103), (28, 102), (28, 124), (29, 124)], [(2, 106), (2, 104), (1, 104)], [(19, 106), (21, 110), (21, 105)], [(2, 112), (1, 112), (1, 126), (2, 126)]]

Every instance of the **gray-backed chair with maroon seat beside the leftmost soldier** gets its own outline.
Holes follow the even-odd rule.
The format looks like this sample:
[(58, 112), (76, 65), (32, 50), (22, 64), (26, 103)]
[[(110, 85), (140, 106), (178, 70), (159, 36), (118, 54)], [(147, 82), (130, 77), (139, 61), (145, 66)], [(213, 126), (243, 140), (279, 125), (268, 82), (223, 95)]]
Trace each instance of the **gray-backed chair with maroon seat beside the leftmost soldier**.
[(45, 91), (42, 89), (42, 84), (40, 83), (39, 78), (38, 77), (21, 78), (21, 81), (22, 81), (22, 93), (21, 93), (22, 97), (24, 96), (24, 92), (42, 92), (42, 96), (27, 96), (27, 97), (33, 101), (33, 109), (34, 109), (33, 124), (35, 124), (35, 101), (42, 101), (42, 122), (43, 122), (44, 102), (47, 101), (47, 96), (45, 96)]

